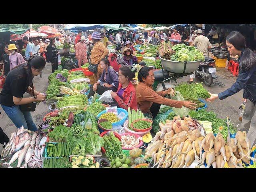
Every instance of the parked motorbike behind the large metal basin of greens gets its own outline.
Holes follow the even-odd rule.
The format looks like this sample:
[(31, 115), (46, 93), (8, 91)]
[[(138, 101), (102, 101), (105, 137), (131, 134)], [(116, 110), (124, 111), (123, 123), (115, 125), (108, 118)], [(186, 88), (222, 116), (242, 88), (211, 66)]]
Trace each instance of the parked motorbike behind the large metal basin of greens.
[(214, 68), (214, 66), (215, 60), (206, 57), (204, 62), (200, 62), (200, 65), (196, 70), (195, 76), (201, 78), (206, 86), (210, 86), (213, 79), (216, 79), (216, 68)]

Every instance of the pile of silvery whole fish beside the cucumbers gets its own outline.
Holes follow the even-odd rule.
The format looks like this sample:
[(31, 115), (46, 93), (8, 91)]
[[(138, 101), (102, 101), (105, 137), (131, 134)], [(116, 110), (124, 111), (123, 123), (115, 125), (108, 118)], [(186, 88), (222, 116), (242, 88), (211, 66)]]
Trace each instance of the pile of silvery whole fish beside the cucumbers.
[(47, 137), (22, 126), (11, 134), (10, 142), (1, 154), (1, 162), (7, 167), (42, 168)]

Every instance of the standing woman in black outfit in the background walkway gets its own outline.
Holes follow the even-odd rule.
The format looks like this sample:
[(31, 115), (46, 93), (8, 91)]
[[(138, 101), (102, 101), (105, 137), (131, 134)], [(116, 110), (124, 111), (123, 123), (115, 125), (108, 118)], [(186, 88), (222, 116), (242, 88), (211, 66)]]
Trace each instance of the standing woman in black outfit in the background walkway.
[(56, 45), (55, 45), (55, 38), (50, 38), (50, 43), (46, 48), (48, 53), (48, 60), (52, 64), (52, 72), (56, 71), (58, 69), (58, 54)]

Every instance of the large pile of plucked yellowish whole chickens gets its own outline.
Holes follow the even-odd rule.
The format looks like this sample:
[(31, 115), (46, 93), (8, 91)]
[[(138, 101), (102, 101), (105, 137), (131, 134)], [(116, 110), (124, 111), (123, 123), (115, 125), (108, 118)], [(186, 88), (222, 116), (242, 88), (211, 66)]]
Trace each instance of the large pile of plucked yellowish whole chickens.
[(242, 163), (256, 160), (250, 157), (250, 144), (244, 132), (238, 131), (235, 139), (229, 134), (225, 142), (222, 127), (216, 137), (212, 133), (204, 136), (194, 120), (186, 117), (174, 117), (159, 126), (160, 131), (146, 148), (144, 157), (152, 157), (152, 167), (186, 168), (193, 164), (192, 167), (205, 168), (206, 163), (207, 168), (242, 168)]

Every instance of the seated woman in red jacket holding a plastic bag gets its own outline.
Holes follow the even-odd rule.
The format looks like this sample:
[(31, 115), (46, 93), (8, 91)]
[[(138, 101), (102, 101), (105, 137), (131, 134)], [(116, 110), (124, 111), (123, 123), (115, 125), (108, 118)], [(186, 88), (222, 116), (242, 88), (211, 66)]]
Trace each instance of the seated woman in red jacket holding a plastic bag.
[(135, 77), (134, 73), (130, 68), (123, 66), (118, 74), (119, 86), (117, 92), (111, 92), (112, 98), (116, 100), (120, 108), (128, 110), (130, 107), (137, 110), (136, 90), (131, 83), (132, 78)]

